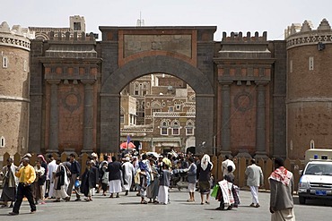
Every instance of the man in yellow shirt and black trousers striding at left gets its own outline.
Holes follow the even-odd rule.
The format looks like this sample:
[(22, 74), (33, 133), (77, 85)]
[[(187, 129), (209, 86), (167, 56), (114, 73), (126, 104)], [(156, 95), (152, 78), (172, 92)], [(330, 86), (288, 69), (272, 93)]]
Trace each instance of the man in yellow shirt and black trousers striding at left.
[(36, 179), (36, 173), (33, 166), (31, 166), (29, 162), (30, 159), (28, 157), (24, 157), (22, 159), (21, 169), (15, 174), (16, 177), (19, 178), (19, 185), (17, 187), (17, 198), (15, 204), (13, 205), (13, 212), (10, 212), (9, 215), (19, 215), (22, 200), (24, 197), (26, 197), (29, 201), (31, 214), (35, 213), (37, 210), (35, 202), (33, 200), (31, 186), (31, 183), (33, 183)]

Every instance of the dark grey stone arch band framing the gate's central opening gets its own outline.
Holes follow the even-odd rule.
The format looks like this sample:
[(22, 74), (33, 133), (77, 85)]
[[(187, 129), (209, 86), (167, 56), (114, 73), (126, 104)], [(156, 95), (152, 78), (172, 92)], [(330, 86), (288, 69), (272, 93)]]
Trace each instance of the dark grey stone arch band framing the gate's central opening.
[(166, 55), (145, 56), (128, 62), (112, 72), (103, 83), (100, 93), (100, 151), (117, 152), (120, 138), (120, 91), (131, 81), (145, 74), (164, 72), (186, 81), (196, 92), (197, 153), (212, 153), (214, 127), (214, 89), (204, 72)]

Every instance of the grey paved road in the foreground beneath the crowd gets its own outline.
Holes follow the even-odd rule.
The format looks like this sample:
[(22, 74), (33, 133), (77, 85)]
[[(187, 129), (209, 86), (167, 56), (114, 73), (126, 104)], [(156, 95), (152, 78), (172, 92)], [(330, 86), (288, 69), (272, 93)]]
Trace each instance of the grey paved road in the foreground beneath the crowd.
[[(260, 192), (260, 208), (250, 208), (251, 196), (249, 191), (240, 191), (241, 205), (233, 210), (219, 211), (214, 210), (219, 203), (214, 199), (210, 205), (200, 205), (199, 193), (195, 193), (196, 202), (189, 203), (187, 191), (170, 191), (169, 205), (141, 205), (140, 198), (135, 196), (135, 192), (129, 192), (128, 196), (122, 193), (120, 198), (109, 199), (100, 194), (93, 197), (92, 202), (70, 201), (52, 202), (48, 200), (45, 205), (38, 205), (36, 214), (29, 214), (30, 207), (27, 201), (22, 203), (19, 216), (10, 217), (10, 208), (0, 208), (0, 220), (111, 220), (121, 218), (124, 221), (144, 220), (144, 221), (169, 221), (169, 220), (232, 220), (232, 221), (266, 221), (270, 220), (268, 211), (269, 193)], [(330, 201), (308, 201), (310, 205), (299, 205), (295, 196), (295, 216), (297, 220), (331, 220)], [(325, 205), (327, 204), (327, 205)], [(156, 218), (157, 217), (157, 218)]]

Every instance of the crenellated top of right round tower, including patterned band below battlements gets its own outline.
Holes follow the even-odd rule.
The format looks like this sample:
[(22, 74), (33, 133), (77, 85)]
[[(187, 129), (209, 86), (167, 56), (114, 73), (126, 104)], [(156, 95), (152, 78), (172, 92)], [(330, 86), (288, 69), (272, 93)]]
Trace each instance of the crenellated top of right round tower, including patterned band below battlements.
[(310, 21), (302, 24), (293, 23), (284, 30), (284, 38), (287, 42), (287, 49), (308, 45), (317, 45), (319, 42), (324, 44), (332, 43), (332, 30), (326, 19), (320, 21), (317, 30), (313, 29)]

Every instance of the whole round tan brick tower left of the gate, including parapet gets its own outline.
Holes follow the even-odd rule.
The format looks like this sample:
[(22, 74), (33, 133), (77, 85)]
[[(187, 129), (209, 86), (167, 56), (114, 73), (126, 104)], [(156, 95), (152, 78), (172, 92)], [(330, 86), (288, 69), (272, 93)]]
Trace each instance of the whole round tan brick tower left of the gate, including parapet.
[(28, 147), (30, 30), (0, 25), (0, 156)]

